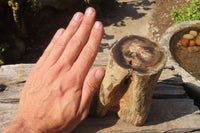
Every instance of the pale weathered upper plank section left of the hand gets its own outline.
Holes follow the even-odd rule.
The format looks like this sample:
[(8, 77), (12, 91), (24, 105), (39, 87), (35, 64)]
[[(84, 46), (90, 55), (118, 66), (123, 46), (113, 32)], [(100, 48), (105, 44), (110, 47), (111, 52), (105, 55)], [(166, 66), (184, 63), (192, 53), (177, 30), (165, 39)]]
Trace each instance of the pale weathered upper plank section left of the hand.
[(21, 90), (33, 64), (8, 65), (0, 68), (0, 103), (19, 99)]

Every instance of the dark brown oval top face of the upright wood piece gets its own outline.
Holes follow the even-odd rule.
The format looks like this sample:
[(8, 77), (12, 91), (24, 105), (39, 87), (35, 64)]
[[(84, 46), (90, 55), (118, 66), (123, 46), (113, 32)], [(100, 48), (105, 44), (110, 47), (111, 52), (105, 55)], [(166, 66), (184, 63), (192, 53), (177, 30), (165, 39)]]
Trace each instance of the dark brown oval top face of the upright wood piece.
[(118, 65), (138, 74), (155, 73), (166, 61), (165, 53), (156, 43), (135, 35), (122, 38), (112, 53)]

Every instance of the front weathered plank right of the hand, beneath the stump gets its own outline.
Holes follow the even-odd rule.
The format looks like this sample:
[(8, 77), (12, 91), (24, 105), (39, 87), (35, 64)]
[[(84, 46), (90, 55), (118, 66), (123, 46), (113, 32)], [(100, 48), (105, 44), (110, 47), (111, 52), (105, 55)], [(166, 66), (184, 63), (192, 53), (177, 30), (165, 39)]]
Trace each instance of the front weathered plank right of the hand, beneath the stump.
[(144, 126), (135, 127), (118, 120), (117, 115), (104, 118), (87, 118), (74, 133), (113, 132), (167, 132), (186, 128), (200, 129), (200, 111), (191, 99), (153, 99), (149, 117)]

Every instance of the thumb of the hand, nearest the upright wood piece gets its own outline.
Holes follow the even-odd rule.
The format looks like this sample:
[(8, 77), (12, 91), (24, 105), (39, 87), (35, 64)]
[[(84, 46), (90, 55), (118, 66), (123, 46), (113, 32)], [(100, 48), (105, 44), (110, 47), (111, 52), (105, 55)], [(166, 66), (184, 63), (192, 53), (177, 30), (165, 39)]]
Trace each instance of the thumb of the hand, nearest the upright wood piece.
[(99, 85), (104, 77), (105, 69), (101, 67), (94, 68), (88, 73), (83, 84), (82, 97), (80, 103), (80, 111), (85, 118), (89, 112), (90, 104), (94, 93), (99, 88)]

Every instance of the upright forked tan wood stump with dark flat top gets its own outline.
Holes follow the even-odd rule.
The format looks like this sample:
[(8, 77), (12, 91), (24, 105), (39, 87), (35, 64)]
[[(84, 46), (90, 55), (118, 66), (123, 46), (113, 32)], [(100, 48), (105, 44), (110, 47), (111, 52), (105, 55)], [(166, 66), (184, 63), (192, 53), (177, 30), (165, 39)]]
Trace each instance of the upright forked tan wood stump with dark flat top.
[(144, 124), (165, 62), (165, 53), (156, 43), (139, 36), (121, 39), (111, 49), (97, 115), (118, 111), (121, 120)]

